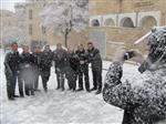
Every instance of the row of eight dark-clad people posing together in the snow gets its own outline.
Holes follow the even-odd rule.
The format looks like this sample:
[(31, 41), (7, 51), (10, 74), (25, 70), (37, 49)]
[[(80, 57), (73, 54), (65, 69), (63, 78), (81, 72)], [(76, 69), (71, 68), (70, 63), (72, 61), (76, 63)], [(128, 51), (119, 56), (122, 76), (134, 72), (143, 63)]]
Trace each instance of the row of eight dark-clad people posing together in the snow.
[[(39, 90), (39, 76), (42, 79), (43, 90), (48, 92), (48, 82), (51, 75), (51, 66), (54, 64), (56, 74), (56, 90), (64, 91), (64, 81), (68, 80), (69, 90), (87, 92), (102, 92), (102, 59), (98, 49), (92, 42), (87, 43), (87, 49), (83, 44), (77, 45), (77, 50), (63, 48), (61, 43), (52, 51), (50, 45), (45, 45), (43, 51), (37, 46), (34, 52), (30, 52), (28, 45), (22, 46), (22, 53), (18, 51), (18, 43), (11, 44), (11, 51), (4, 59), (4, 74), (7, 79), (7, 94), (9, 100), (19, 97), (15, 95), (18, 82), (20, 97), (34, 95)], [(90, 89), (89, 64), (92, 65), (93, 87)], [(79, 79), (79, 89), (76, 81)], [(84, 82), (84, 83), (83, 83)]]

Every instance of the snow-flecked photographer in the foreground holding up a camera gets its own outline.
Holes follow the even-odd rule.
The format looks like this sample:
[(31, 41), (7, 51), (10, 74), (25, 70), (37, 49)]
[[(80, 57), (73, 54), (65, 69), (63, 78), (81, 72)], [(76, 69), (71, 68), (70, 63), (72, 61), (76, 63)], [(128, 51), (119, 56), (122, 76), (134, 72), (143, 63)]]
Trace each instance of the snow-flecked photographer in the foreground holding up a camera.
[[(166, 118), (166, 27), (153, 29), (146, 59), (137, 50), (123, 51), (111, 64), (103, 99), (124, 110), (122, 124), (154, 124)], [(122, 81), (123, 63), (141, 63), (141, 74)]]

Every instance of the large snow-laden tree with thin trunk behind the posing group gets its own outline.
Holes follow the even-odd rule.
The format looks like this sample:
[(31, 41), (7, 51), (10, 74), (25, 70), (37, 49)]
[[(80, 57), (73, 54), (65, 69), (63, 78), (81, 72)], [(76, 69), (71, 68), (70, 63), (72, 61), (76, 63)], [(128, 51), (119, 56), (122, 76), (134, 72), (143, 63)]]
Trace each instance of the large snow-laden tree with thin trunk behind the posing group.
[(89, 0), (55, 0), (44, 8), (41, 18), (43, 27), (63, 34), (68, 46), (70, 32), (79, 32), (87, 25)]

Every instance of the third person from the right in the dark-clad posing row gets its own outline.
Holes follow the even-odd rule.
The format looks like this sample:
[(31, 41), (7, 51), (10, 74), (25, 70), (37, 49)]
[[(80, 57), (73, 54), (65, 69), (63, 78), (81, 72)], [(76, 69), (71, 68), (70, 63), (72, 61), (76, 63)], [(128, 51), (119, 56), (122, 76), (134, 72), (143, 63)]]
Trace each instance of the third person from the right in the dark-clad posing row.
[(68, 49), (68, 61), (69, 66), (65, 71), (65, 78), (68, 79), (69, 90), (75, 91), (77, 69), (79, 69), (79, 58), (71, 48)]

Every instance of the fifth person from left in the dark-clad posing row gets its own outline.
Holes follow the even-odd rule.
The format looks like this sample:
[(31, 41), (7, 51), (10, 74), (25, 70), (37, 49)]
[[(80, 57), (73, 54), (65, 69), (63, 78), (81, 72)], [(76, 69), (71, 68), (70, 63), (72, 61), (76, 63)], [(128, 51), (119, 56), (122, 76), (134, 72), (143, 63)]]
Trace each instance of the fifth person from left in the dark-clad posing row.
[(61, 43), (58, 43), (56, 50), (53, 51), (53, 61), (58, 80), (56, 90), (61, 89), (64, 91), (64, 74), (65, 68), (68, 66), (68, 53), (66, 50), (62, 48)]

